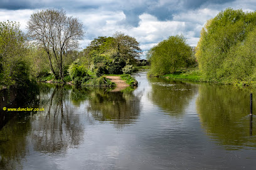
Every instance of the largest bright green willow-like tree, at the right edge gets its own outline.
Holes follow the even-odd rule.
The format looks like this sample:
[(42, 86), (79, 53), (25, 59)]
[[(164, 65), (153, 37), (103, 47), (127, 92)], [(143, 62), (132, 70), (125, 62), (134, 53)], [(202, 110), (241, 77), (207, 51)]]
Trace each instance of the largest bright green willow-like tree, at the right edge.
[(221, 83), (256, 80), (255, 12), (226, 9), (201, 31), (196, 58), (203, 79)]

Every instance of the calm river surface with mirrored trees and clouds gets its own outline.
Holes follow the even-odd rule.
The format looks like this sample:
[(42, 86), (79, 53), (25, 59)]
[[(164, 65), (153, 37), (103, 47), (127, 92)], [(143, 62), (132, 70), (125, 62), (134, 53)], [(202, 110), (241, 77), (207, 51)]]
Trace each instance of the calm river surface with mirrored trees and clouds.
[(122, 92), (40, 84), (45, 111), (1, 108), (0, 169), (255, 169), (255, 90), (135, 78)]

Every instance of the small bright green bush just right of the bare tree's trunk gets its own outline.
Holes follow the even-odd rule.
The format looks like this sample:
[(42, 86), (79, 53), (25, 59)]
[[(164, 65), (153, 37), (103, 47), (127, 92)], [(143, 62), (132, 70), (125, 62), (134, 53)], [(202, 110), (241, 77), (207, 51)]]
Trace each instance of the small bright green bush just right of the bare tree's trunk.
[(85, 83), (90, 79), (87, 69), (85, 69), (84, 66), (81, 66), (79, 60), (74, 61), (71, 64), (70, 68), (68, 69), (68, 73), (73, 83), (77, 86), (80, 86), (82, 83)]

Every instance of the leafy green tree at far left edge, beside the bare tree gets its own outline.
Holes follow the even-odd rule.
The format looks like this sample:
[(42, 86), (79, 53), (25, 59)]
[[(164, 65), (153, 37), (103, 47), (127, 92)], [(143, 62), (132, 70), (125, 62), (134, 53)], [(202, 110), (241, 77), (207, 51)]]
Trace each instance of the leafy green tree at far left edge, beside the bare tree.
[(0, 22), (0, 84), (9, 86), (19, 81), (15, 74), (20, 71), (20, 64), (27, 62), (25, 54), (26, 37), (19, 29), (19, 24), (10, 21)]

